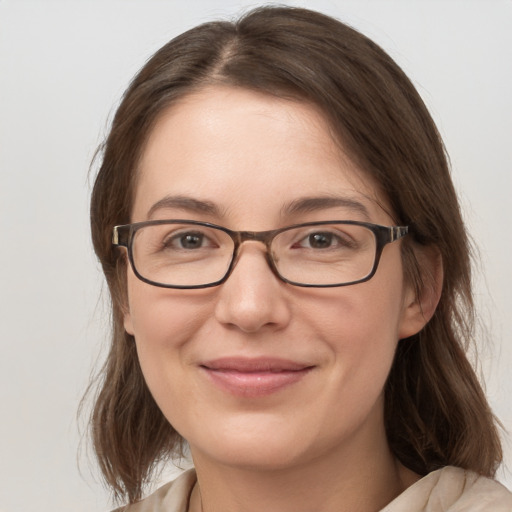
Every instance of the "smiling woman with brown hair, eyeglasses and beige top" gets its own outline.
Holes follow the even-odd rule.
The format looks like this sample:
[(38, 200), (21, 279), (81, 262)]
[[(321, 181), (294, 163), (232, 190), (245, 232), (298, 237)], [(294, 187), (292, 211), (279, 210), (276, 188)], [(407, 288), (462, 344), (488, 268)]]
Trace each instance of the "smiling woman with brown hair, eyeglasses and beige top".
[[(442, 141), (379, 47), (295, 8), (202, 25), (103, 149), (92, 432), (122, 510), (512, 510)], [(195, 470), (140, 501), (183, 441)]]

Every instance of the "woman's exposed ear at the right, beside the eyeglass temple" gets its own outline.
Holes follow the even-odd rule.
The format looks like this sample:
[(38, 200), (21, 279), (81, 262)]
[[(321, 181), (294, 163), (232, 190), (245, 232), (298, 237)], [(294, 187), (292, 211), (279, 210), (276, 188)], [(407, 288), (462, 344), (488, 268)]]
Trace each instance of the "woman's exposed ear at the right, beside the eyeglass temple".
[[(417, 289), (413, 278), (405, 283), (404, 304), (399, 326), (399, 339), (420, 332), (432, 318), (443, 289), (443, 260), (435, 246), (415, 246), (411, 260), (416, 260), (420, 281)], [(412, 263), (412, 262), (411, 262)]]

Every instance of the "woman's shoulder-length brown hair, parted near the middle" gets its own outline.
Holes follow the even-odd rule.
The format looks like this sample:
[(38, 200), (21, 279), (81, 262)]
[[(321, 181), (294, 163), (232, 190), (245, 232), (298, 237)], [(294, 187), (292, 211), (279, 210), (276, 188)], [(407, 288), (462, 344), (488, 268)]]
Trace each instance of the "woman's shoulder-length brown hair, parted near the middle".
[(419, 474), (456, 465), (494, 475), (502, 457), (495, 419), (465, 355), (473, 335), (470, 246), (439, 133), (411, 82), (375, 43), (317, 12), (265, 7), (235, 23), (201, 25), (161, 48), (126, 91), (102, 148), (91, 226), (113, 333), (91, 426), (107, 483), (137, 501), (156, 465), (181, 449), (123, 328), (126, 262), (111, 234), (130, 222), (138, 159), (159, 114), (212, 83), (323, 110), (344, 149), (380, 184), (397, 221), (413, 227), (403, 259), (418, 293), (428, 283), (412, 245), (440, 252), (438, 308), (419, 334), (399, 343), (388, 378), (387, 435), (396, 457)]

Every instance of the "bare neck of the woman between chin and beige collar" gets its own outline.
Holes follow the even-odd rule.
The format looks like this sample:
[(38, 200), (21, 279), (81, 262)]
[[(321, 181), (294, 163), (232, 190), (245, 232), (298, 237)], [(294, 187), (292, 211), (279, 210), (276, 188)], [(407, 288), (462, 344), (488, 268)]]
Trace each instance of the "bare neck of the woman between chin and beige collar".
[(190, 512), (376, 512), (417, 480), (396, 461), (385, 438), (366, 445), (364, 453), (351, 444), (273, 470), (193, 455), (198, 485)]

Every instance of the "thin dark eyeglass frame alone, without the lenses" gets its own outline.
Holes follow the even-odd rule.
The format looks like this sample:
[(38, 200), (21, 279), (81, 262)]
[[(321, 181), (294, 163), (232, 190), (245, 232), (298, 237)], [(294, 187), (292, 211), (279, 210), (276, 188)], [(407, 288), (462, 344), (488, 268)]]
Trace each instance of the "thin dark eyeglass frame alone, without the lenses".
[[(156, 225), (162, 225), (162, 224), (189, 224), (191, 226), (204, 226), (208, 228), (214, 228), (218, 229), (220, 231), (223, 231), (227, 235), (230, 236), (230, 238), (233, 240), (233, 256), (231, 257), (231, 262), (229, 264), (229, 267), (225, 273), (225, 275), (213, 282), (213, 283), (207, 283), (207, 284), (200, 284), (200, 285), (192, 285), (192, 286), (185, 286), (185, 285), (169, 285), (169, 284), (163, 284), (158, 283), (156, 281), (151, 281), (150, 279), (145, 278), (142, 276), (139, 271), (137, 270), (137, 267), (135, 265), (134, 259), (133, 259), (133, 240), (135, 233), (139, 229), (142, 229), (146, 226), (156, 226)], [(375, 259), (373, 263), (373, 268), (370, 271), (370, 273), (363, 277), (362, 279), (358, 279), (356, 281), (350, 281), (348, 283), (339, 283), (339, 284), (304, 284), (299, 283), (296, 281), (291, 281), (285, 277), (283, 277), (277, 267), (274, 263), (274, 259), (272, 258), (272, 254), (270, 251), (270, 247), (272, 244), (272, 241), (274, 238), (279, 235), (280, 233), (283, 233), (284, 231), (288, 231), (291, 229), (296, 228), (302, 228), (302, 227), (308, 227), (308, 226), (326, 226), (326, 225), (332, 225), (332, 224), (345, 224), (345, 225), (352, 225), (352, 226), (363, 226), (370, 231), (373, 232), (375, 236)], [(272, 229), (269, 231), (232, 231), (228, 228), (225, 228), (223, 226), (219, 226), (217, 224), (211, 224), (209, 222), (201, 222), (196, 220), (182, 220), (182, 219), (169, 219), (169, 220), (150, 220), (145, 222), (135, 222), (133, 224), (123, 224), (119, 226), (114, 226), (113, 233), (112, 233), (112, 245), (115, 247), (125, 247), (128, 252), (128, 259), (130, 260), (130, 265), (132, 267), (132, 270), (134, 274), (143, 282), (158, 286), (160, 288), (175, 288), (175, 289), (197, 289), (197, 288), (211, 288), (213, 286), (219, 286), (220, 284), (224, 283), (229, 276), (231, 275), (233, 269), (235, 268), (236, 262), (238, 261), (240, 247), (244, 242), (249, 241), (255, 241), (255, 242), (262, 242), (265, 244), (266, 252), (265, 256), (267, 259), (267, 263), (272, 270), (272, 272), (283, 282), (291, 284), (293, 286), (300, 286), (303, 288), (334, 288), (334, 287), (340, 287), (340, 286), (350, 286), (353, 284), (363, 283), (365, 281), (369, 281), (377, 271), (377, 267), (379, 265), (380, 257), (382, 254), (382, 250), (384, 249), (384, 246), (396, 242), (400, 238), (404, 237), (409, 233), (409, 226), (382, 226), (379, 224), (372, 224), (369, 222), (360, 222), (355, 220), (329, 220), (329, 221), (318, 221), (318, 222), (305, 222), (302, 224), (294, 224), (291, 226), (286, 226), (284, 228), (279, 229)]]

